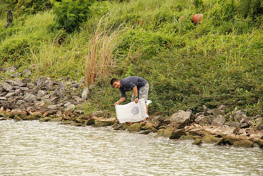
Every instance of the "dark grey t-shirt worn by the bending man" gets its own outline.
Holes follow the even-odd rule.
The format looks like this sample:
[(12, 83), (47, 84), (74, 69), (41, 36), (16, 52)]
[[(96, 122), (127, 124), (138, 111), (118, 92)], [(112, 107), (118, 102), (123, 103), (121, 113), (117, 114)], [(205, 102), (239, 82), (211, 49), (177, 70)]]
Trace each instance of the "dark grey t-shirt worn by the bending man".
[(122, 94), (122, 97), (126, 97), (125, 92), (133, 90), (135, 86), (137, 86), (137, 90), (139, 90), (147, 83), (145, 79), (139, 76), (129, 76), (124, 79), (121, 79), (120, 82), (121, 82), (121, 88), (119, 90)]

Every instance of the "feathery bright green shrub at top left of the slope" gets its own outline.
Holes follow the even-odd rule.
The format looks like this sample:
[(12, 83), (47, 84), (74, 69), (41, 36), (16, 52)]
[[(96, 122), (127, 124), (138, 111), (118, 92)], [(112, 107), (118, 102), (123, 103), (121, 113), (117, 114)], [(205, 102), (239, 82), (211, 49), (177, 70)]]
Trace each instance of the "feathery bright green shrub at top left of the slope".
[(94, 0), (51, 0), (53, 13), (56, 15), (56, 27), (64, 28), (71, 32), (79, 23), (82, 23), (90, 15), (90, 6)]

